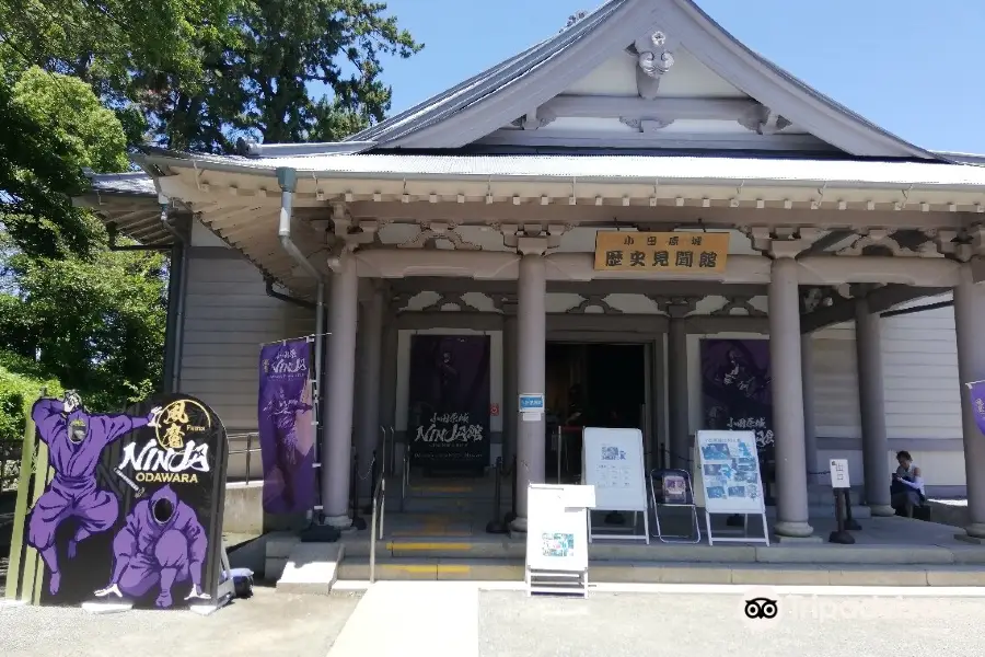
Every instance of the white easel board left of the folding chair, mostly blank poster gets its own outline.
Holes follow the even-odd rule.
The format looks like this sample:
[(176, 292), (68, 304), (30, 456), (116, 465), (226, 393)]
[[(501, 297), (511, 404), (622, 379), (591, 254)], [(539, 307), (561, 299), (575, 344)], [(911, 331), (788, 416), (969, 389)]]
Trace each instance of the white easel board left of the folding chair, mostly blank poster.
[[(583, 482), (595, 487), (595, 510), (633, 512), (633, 526), (629, 528), (594, 527), (589, 514), (589, 542), (594, 539), (629, 539), (646, 541), (649, 545), (642, 431), (586, 427), (582, 433), (581, 468)], [(636, 532), (640, 514), (642, 535)]]

